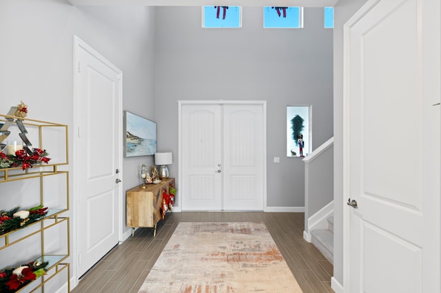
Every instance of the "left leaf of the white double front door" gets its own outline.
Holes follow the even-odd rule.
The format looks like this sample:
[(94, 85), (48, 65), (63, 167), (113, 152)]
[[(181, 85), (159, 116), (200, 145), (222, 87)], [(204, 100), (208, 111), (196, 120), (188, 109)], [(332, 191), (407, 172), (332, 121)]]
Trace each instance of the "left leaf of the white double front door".
[(220, 107), (183, 105), (183, 209), (220, 210), (222, 162)]

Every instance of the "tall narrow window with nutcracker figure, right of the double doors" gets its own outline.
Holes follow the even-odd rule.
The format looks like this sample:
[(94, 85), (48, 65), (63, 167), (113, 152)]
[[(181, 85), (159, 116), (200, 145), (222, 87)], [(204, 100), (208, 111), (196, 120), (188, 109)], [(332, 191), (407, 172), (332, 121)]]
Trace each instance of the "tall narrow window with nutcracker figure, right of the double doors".
[(287, 106), (287, 157), (302, 158), (311, 152), (311, 107)]

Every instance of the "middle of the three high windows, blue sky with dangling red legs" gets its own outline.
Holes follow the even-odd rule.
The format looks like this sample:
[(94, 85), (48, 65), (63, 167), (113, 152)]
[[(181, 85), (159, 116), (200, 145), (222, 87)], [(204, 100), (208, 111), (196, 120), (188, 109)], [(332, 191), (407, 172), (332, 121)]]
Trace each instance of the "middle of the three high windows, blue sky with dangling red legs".
[(263, 8), (264, 28), (301, 28), (300, 7), (271, 7)]

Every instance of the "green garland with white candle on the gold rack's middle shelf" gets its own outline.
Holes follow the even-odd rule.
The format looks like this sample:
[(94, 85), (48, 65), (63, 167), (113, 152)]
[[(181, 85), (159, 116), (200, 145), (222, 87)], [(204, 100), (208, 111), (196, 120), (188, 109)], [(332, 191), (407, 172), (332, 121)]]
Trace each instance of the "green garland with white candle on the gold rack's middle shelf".
[(24, 228), (29, 224), (39, 221), (39, 219), (48, 214), (48, 208), (43, 208), (42, 204), (34, 206), (33, 208), (28, 208), (29, 216), (25, 219), (14, 217), (14, 213), (17, 213), (19, 210), (20, 206), (8, 211), (0, 210), (0, 235), (19, 228)]

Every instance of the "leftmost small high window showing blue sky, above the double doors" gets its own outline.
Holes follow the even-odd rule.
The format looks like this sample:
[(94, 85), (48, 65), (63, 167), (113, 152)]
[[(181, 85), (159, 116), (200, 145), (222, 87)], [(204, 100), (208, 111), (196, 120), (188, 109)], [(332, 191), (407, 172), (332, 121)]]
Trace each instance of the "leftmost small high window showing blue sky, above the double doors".
[(240, 6), (203, 6), (203, 28), (240, 28)]

